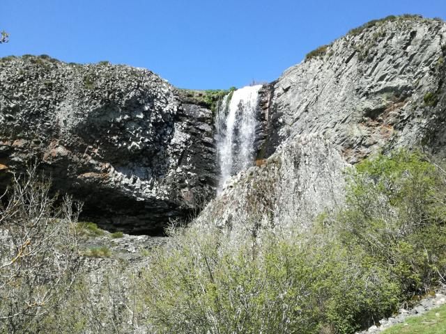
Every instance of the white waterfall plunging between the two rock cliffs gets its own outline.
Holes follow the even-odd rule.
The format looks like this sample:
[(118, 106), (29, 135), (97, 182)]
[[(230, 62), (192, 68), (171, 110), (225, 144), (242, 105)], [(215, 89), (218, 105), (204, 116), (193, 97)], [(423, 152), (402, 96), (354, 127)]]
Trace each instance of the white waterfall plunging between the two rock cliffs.
[(224, 97), (217, 110), (217, 156), (220, 164), (218, 191), (240, 170), (254, 164), (254, 140), (258, 86), (247, 86)]

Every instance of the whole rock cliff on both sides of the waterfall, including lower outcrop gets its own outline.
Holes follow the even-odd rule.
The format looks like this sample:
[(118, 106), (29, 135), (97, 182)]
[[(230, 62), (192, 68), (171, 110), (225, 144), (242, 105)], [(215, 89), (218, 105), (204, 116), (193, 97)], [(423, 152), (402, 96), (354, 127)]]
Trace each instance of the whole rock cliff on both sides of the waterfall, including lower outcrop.
[[(293, 207), (305, 223), (342, 202), (348, 164), (401, 146), (444, 156), (445, 58), (445, 22), (416, 15), (369, 22), (312, 51), (261, 88), (259, 166), (233, 178), (199, 221), (277, 224)], [(84, 218), (160, 232), (217, 184), (213, 111), (196, 95), (139, 68), (2, 58), (0, 185), (37, 159), (54, 189), (84, 200)], [(252, 201), (260, 216), (244, 216)]]

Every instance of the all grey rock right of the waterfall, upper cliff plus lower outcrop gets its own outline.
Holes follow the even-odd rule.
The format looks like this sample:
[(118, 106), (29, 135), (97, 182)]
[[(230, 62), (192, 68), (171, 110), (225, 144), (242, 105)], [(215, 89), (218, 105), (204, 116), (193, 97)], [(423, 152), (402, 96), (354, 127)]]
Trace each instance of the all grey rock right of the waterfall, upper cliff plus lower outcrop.
[(445, 58), (445, 22), (418, 16), (371, 22), (315, 50), (261, 90), (256, 164), (267, 167), (234, 177), (198, 221), (305, 225), (343, 202), (348, 163), (399, 147), (444, 156)]

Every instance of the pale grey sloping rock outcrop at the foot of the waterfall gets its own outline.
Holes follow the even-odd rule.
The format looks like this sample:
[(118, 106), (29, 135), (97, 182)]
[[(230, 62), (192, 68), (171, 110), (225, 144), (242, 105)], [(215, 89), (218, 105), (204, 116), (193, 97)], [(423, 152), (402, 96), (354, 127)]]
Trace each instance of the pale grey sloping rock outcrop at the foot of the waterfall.
[(236, 241), (263, 225), (305, 228), (343, 202), (348, 164), (321, 134), (298, 136), (258, 165), (226, 182), (194, 223), (217, 225)]

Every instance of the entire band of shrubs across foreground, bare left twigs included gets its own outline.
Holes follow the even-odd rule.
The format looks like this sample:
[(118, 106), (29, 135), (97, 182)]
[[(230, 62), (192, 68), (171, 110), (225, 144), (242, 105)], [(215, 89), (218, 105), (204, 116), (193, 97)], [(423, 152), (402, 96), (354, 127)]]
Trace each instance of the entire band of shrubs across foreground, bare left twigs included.
[[(345, 205), (321, 214), (305, 231), (270, 225), (234, 237), (222, 232), (215, 216), (206, 226), (172, 228), (171, 242), (145, 254), (137, 273), (116, 267), (109, 248), (80, 250), (89, 262), (114, 267), (87, 275), (72, 271), (63, 289), (39, 304), (45, 308), (40, 313), (16, 316), (10, 310), (33, 308), (15, 296), (38, 295), (50, 287), (45, 280), (0, 288), (0, 333), (15, 333), (22, 324), (20, 333), (350, 334), (367, 328), (403, 301), (445, 283), (446, 175), (429, 157), (399, 151), (364, 160), (347, 177)], [(72, 216), (70, 207), (65, 210)], [(11, 216), (2, 225), (11, 237), (21, 233), (15, 222)], [(57, 251), (63, 235), (47, 232)], [(66, 228), (73, 232), (75, 239), (101, 234), (95, 224), (76, 220)], [(45, 245), (45, 235), (40, 239)], [(24, 261), (31, 254), (20, 253), (20, 245)], [(7, 260), (10, 253), (3, 250), (1, 260)], [(79, 249), (67, 250), (77, 259)], [(20, 273), (33, 282), (34, 273), (12, 264), (0, 274), (13, 270), (11, 277)], [(58, 269), (47, 265), (39, 267), (43, 278), (58, 277)]]

